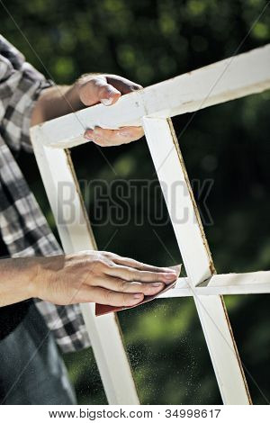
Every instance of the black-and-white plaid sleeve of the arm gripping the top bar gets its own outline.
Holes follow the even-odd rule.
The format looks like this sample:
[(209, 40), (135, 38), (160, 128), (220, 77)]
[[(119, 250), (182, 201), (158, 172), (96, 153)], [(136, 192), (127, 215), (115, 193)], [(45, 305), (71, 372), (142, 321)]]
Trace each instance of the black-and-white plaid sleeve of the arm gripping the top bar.
[(52, 85), (0, 35), (0, 121), (7, 145), (31, 151), (31, 112), (40, 92)]

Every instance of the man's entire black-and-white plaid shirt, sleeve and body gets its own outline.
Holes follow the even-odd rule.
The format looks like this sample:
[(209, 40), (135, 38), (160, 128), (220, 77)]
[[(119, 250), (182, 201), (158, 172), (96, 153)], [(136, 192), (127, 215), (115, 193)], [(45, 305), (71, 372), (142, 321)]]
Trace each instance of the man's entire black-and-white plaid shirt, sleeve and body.
[[(31, 152), (31, 111), (50, 84), (0, 35), (0, 232), (11, 257), (62, 254), (12, 151)], [(63, 352), (89, 347), (78, 305), (35, 300)]]

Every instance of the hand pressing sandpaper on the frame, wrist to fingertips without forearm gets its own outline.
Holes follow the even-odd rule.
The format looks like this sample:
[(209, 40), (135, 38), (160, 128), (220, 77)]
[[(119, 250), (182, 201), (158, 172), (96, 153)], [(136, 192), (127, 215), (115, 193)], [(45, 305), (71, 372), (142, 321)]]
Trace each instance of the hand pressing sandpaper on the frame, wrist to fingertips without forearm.
[(31, 296), (60, 305), (136, 305), (144, 295), (158, 293), (177, 277), (169, 267), (148, 266), (106, 251), (40, 257), (37, 264)]

